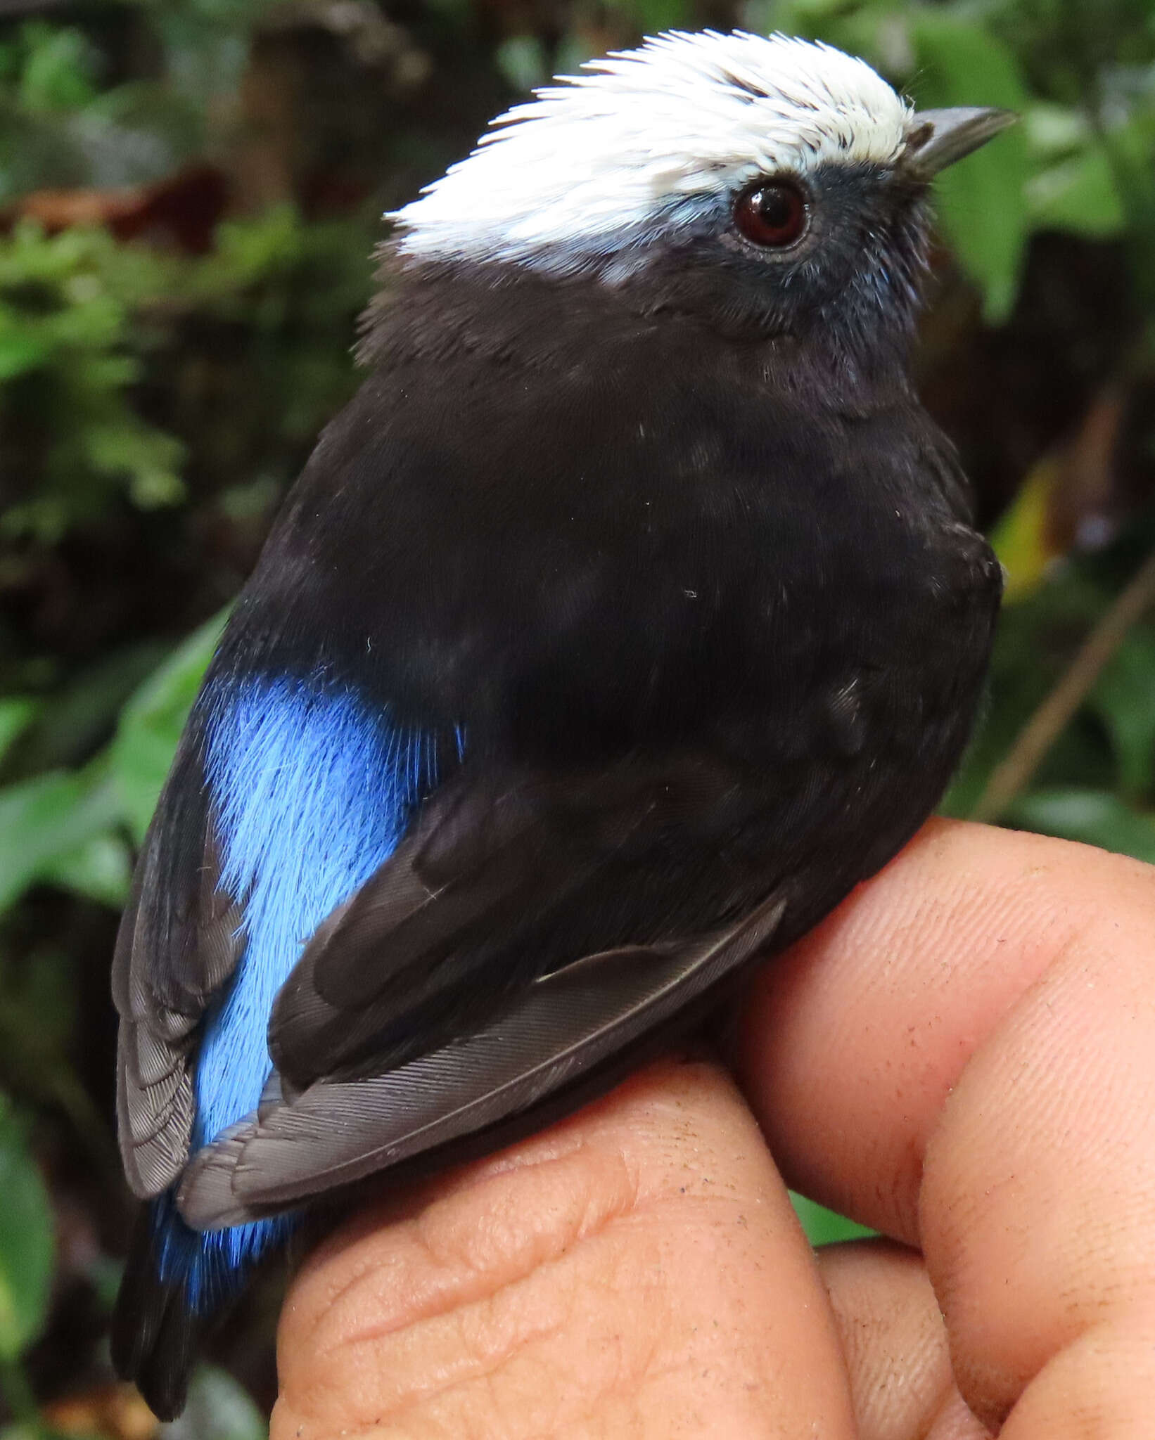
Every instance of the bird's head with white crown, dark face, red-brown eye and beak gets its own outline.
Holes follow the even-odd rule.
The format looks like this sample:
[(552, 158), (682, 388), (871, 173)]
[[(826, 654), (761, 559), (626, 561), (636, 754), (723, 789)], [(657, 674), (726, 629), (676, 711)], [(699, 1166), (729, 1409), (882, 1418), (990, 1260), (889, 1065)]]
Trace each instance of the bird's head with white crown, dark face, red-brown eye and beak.
[(390, 219), (402, 262), (586, 276), (739, 333), (889, 348), (929, 181), (1011, 118), (916, 112), (825, 45), (671, 33), (514, 107)]

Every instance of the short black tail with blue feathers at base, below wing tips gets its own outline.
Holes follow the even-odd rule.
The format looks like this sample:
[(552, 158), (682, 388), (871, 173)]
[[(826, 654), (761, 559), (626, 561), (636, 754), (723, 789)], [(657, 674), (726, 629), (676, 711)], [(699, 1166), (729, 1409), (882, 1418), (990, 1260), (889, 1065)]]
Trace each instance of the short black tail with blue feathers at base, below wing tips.
[(171, 1191), (137, 1215), (112, 1312), (112, 1365), (121, 1380), (135, 1381), (158, 1420), (174, 1420), (184, 1408), (202, 1339), (291, 1227), (288, 1217), (277, 1217), (232, 1230), (192, 1230)]

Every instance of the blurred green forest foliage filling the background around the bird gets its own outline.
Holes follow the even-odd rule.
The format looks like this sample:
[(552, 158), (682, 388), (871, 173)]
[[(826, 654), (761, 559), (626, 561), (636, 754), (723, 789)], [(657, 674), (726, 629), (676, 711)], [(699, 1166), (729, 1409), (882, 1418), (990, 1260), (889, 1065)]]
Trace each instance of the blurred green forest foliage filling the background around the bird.
[[(1005, 433), (961, 435), (984, 514), (1005, 510), (997, 541), (1011, 580), (985, 720), (946, 802), (968, 815), (1155, 546), (1155, 0), (733, 0), (722, 12), (696, 0), (49, 0), (0, 20), (7, 1440), (49, 1434), (37, 1403), (107, 1375), (89, 1342), (69, 1342), (81, 1358), (53, 1369), (50, 1282), (69, 1303), (89, 1295), (98, 1333), (125, 1215), (105, 1120), (115, 909), (222, 608), (356, 383), (349, 346), (376, 216), (552, 72), (723, 14), (861, 53), (922, 107), (1023, 115), (943, 177), (927, 328), (927, 395), (946, 376), (952, 431), (963, 380), (979, 410), (1001, 403), (982, 390), (984, 356), (1010, 357), (1001, 374), (1061, 364), (1077, 379), (1063, 390), (1077, 395), (1070, 410), (1056, 390), (1035, 405), (1041, 420), (1024, 400), (998, 412)], [(1110, 278), (1113, 330), (1064, 318), (1076, 265)], [(1122, 396), (1106, 431), (1103, 393)], [(1010, 490), (991, 481), (995, 461)], [(1152, 698), (1143, 616), (1001, 818), (1155, 861)], [(76, 1246), (53, 1233), (78, 1210), (89, 1259), (68, 1270)], [(854, 1233), (808, 1201), (799, 1210), (815, 1241)], [(228, 1377), (206, 1369), (197, 1385), (173, 1436), (261, 1431)]]

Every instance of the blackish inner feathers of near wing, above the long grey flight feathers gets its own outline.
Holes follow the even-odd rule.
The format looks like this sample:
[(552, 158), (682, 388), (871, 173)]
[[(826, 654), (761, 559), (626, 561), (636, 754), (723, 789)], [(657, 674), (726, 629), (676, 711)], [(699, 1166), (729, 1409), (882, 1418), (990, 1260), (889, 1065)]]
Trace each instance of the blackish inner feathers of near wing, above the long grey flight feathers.
[[(661, 874), (677, 845), (698, 865), (750, 793), (733, 769), (690, 753), (484, 785), (467, 769), (321, 926), (282, 986), (269, 1048), (287, 1087), (379, 1074), (469, 1034), (583, 949), (651, 943), (652, 919), (631, 933), (582, 894), (639, 890), (638, 876)], [(575, 913), (595, 926), (585, 942)], [(723, 916), (719, 906), (683, 933)]]

